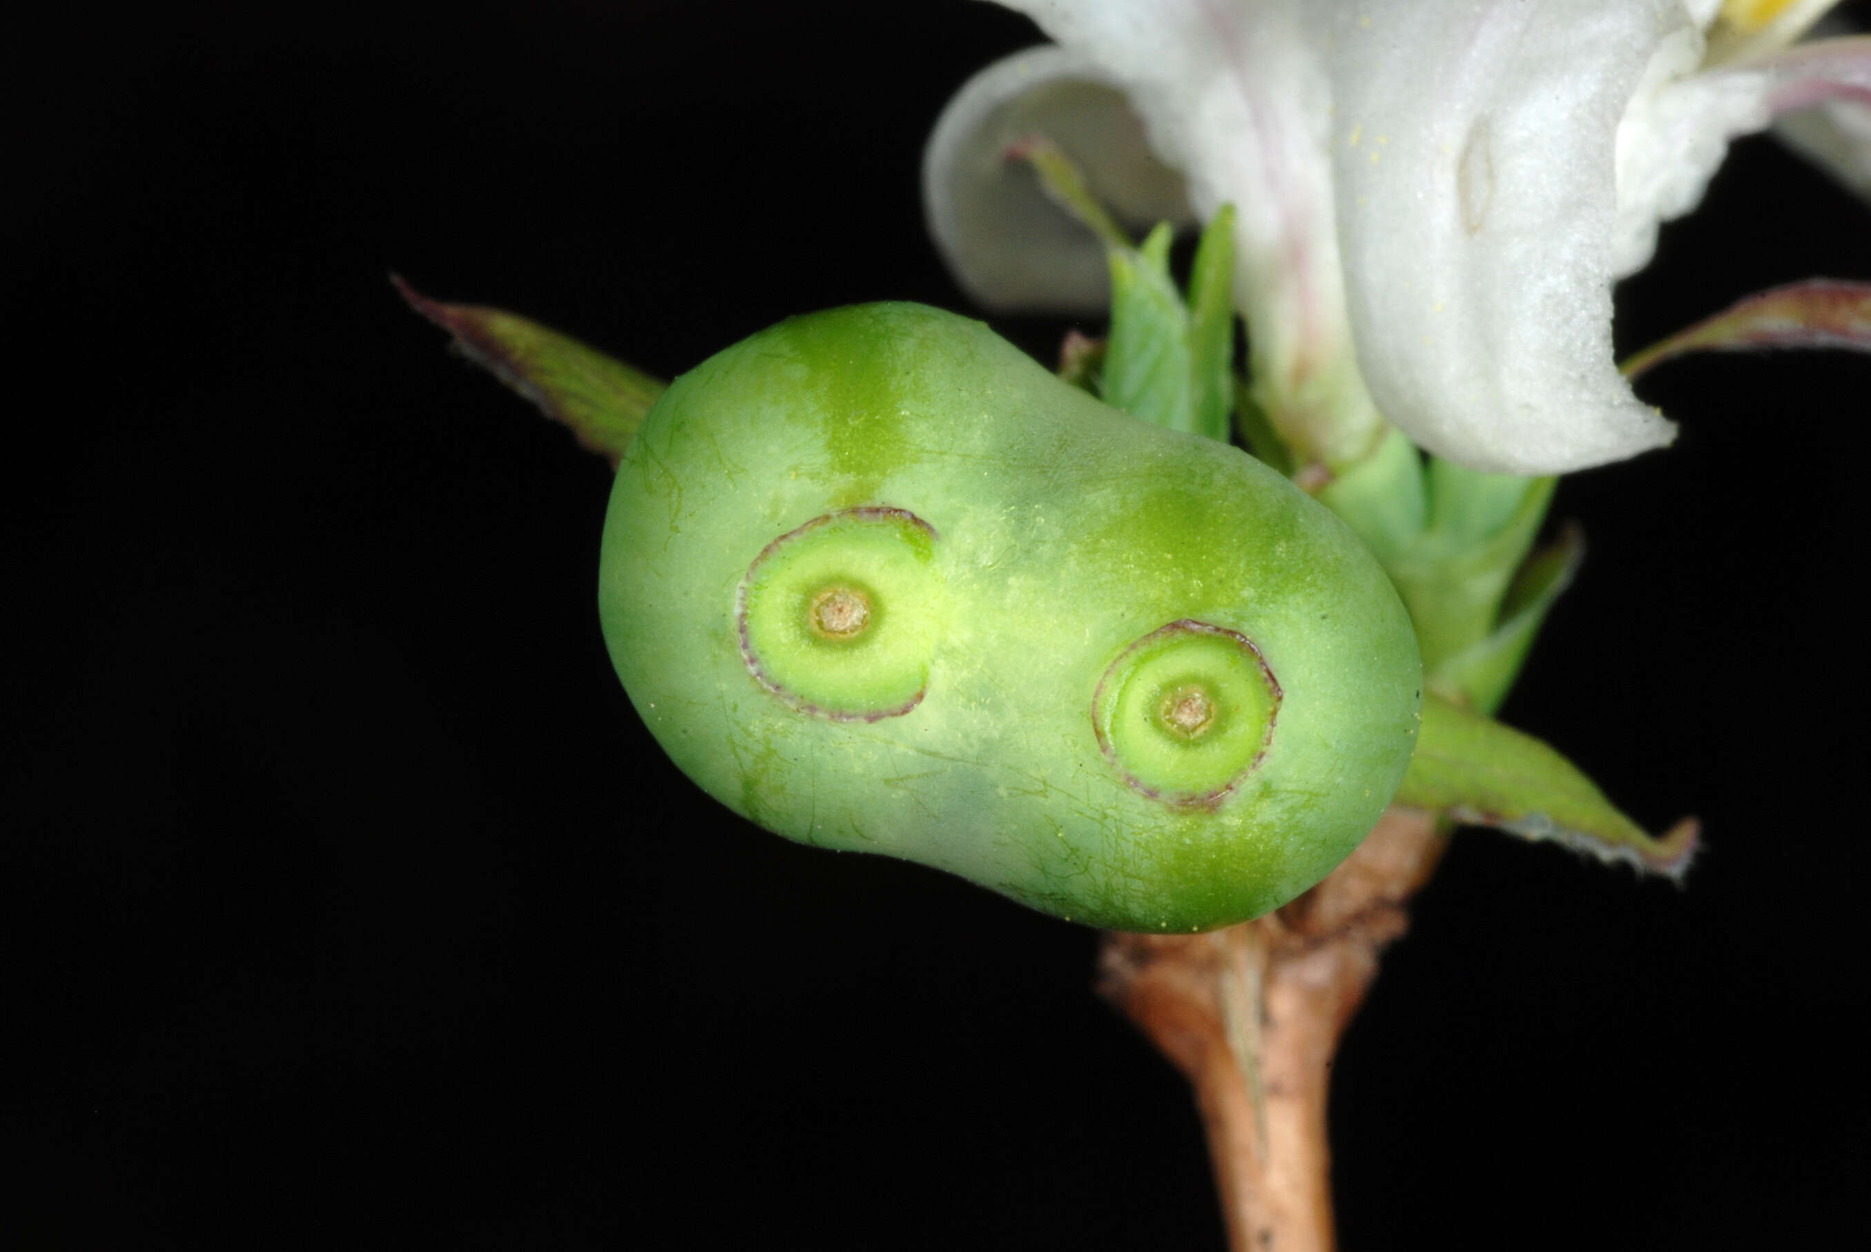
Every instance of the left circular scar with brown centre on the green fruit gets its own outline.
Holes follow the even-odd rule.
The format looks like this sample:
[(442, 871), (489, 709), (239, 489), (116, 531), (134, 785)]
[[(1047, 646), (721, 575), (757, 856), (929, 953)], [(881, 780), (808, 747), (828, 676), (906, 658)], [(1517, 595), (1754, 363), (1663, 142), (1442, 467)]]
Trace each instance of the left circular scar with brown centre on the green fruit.
[(754, 558), (735, 593), (741, 661), (801, 713), (876, 722), (922, 702), (936, 528), (907, 509), (816, 517)]

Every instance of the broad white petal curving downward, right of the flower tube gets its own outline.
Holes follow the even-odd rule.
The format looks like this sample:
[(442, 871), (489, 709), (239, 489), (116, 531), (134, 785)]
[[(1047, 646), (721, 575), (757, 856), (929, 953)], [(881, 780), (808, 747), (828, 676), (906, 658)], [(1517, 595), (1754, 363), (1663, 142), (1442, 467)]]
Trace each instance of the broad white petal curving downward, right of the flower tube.
[(1667, 0), (1377, 0), (1336, 24), (1358, 359), (1429, 451), (1551, 473), (1671, 442), (1613, 365), (1611, 283), (1618, 122), (1682, 30)]

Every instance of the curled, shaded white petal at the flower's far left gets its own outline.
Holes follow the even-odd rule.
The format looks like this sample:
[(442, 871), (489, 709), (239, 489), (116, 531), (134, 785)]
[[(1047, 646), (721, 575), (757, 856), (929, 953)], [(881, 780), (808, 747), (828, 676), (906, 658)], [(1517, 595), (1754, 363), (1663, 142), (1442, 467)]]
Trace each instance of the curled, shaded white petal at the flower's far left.
[(988, 66), (943, 110), (922, 153), (930, 234), (956, 281), (988, 309), (1104, 311), (1104, 243), (1007, 155), (1035, 135), (1072, 157), (1126, 226), (1194, 219), (1182, 176), (1151, 152), (1110, 75), (1070, 49), (1038, 47)]

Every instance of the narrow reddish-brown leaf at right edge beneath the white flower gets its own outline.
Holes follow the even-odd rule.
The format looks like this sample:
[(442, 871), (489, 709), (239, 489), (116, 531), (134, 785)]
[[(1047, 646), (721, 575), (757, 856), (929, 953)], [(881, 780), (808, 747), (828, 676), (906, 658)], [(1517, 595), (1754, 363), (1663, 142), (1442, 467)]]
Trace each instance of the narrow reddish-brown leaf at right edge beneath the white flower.
[(1845, 348), (1871, 352), (1871, 283), (1807, 279), (1740, 299), (1650, 344), (1618, 369), (1635, 378), (1688, 352)]

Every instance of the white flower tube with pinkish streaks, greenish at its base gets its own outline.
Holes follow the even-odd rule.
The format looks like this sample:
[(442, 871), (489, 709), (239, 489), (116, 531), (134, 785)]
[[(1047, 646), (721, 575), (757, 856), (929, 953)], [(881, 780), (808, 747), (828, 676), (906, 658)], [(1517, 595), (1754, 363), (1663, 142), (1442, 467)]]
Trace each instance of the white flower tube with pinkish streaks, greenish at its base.
[(1235, 206), (1235, 298), (1269, 415), (1328, 462), (1379, 417), (1356, 372), (1313, 0), (1003, 0), (1123, 82), (1203, 217)]

